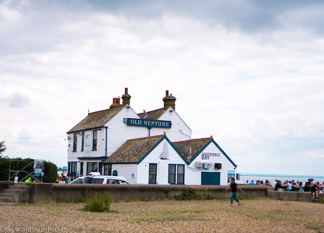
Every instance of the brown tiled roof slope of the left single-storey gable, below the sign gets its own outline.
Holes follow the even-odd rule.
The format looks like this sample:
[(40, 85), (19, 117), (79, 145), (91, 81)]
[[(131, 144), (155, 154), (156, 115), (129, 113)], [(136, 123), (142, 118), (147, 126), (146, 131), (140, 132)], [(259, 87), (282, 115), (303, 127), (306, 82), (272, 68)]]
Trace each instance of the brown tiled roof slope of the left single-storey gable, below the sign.
[(127, 140), (105, 163), (137, 163), (139, 162), (164, 135), (143, 137)]

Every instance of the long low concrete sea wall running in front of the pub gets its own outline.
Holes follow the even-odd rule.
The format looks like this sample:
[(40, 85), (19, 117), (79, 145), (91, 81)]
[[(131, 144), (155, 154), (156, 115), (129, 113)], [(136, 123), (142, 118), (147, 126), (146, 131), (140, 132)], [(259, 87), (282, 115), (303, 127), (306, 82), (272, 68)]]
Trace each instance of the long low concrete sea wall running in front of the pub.
[[(12, 183), (11, 183), (12, 184)], [(225, 192), (228, 186), (214, 185), (114, 185), (114, 184), (50, 184), (50, 183), (23, 183), (29, 186), (26, 189), (24, 200), (30, 202), (58, 201), (70, 202), (84, 197), (91, 198), (105, 192), (111, 195), (113, 201), (119, 200), (157, 200), (181, 195), (185, 189), (194, 189), (196, 194), (210, 195), (213, 197), (227, 197), (231, 190)], [(19, 186), (18, 185), (18, 186)], [(277, 200), (312, 202), (311, 193), (278, 192), (272, 187), (259, 185), (239, 185), (244, 190), (243, 195), (248, 197), (269, 197)], [(8, 188), (6, 181), (0, 181), (0, 191)], [(238, 195), (240, 191), (238, 191)], [(319, 194), (319, 199), (324, 200), (324, 194)]]

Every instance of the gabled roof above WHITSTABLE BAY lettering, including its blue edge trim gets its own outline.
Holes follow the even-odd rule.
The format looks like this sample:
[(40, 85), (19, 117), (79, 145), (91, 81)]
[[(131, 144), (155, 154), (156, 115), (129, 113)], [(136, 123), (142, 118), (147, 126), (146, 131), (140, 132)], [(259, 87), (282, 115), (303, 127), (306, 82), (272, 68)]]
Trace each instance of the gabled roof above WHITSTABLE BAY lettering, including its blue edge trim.
[(188, 164), (190, 164), (210, 143), (214, 143), (214, 145), (223, 153), (223, 155), (225, 155), (225, 157), (233, 164), (233, 166), (237, 167), (237, 165), (228, 157), (228, 155), (222, 150), (222, 148), (220, 148), (220, 146), (214, 141), (212, 137), (172, 142), (174, 147), (182, 154), (182, 156), (187, 161), (190, 161)]

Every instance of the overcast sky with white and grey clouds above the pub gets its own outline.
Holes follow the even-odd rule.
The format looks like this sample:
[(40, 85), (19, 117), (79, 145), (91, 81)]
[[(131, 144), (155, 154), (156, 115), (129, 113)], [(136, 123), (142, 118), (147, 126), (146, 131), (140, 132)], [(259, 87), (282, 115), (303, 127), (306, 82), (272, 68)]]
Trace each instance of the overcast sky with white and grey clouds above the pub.
[(324, 2), (0, 0), (0, 141), (67, 163), (66, 132), (165, 90), (242, 173), (324, 175)]

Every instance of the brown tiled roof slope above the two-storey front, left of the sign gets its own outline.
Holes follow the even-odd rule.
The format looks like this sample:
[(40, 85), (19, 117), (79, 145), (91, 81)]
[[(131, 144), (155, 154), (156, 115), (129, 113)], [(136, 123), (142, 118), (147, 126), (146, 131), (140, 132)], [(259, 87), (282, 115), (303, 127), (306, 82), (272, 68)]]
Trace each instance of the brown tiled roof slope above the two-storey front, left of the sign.
[(93, 129), (104, 126), (110, 119), (116, 116), (124, 107), (119, 106), (114, 109), (107, 109), (88, 114), (77, 125), (71, 128), (67, 133), (78, 132), (87, 129)]

